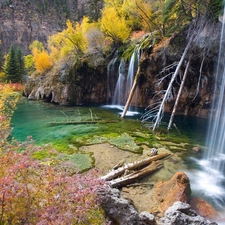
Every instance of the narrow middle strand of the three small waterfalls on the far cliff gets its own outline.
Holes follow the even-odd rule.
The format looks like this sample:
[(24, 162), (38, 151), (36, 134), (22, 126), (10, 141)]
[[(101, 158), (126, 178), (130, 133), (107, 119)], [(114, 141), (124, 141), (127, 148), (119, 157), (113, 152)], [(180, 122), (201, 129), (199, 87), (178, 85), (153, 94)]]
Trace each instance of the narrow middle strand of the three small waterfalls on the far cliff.
[(113, 95), (113, 105), (121, 105), (124, 99), (124, 84), (125, 84), (125, 62), (123, 59), (120, 61), (119, 76), (116, 83), (116, 88)]

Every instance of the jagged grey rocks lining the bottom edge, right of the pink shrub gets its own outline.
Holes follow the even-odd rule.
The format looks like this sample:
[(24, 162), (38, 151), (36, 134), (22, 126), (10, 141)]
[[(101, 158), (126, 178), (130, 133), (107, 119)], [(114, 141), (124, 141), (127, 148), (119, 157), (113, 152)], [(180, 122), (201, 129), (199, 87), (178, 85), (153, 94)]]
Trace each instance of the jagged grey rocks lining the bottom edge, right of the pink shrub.
[(197, 215), (187, 203), (180, 201), (170, 206), (164, 217), (156, 221), (155, 216), (148, 212), (140, 214), (127, 199), (120, 196), (116, 188), (99, 190), (101, 206), (112, 225), (217, 225)]

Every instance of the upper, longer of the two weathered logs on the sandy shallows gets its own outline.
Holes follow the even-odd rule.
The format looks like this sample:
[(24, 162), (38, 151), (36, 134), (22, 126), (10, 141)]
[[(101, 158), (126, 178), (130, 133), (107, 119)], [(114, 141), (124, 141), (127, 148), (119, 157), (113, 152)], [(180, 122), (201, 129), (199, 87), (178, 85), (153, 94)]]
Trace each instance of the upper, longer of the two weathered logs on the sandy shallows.
[(105, 176), (102, 176), (101, 179), (106, 180), (106, 181), (110, 181), (110, 180), (112, 180), (114, 178), (122, 176), (125, 173), (125, 171), (127, 171), (127, 170), (135, 170), (137, 168), (140, 168), (140, 167), (143, 167), (143, 166), (147, 166), (153, 161), (164, 159), (164, 158), (167, 158), (169, 156), (170, 156), (169, 153), (161, 153), (159, 155), (152, 156), (152, 157), (140, 160), (138, 162), (125, 164), (124, 166), (119, 167), (116, 170), (112, 169), (111, 171), (109, 171), (108, 174), (106, 174)]

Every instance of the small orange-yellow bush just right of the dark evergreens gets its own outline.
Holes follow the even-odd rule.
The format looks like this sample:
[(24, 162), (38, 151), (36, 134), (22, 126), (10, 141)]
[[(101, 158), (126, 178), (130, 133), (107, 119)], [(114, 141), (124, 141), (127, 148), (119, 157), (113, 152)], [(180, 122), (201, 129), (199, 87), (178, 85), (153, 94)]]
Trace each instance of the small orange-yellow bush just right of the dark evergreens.
[(38, 72), (44, 73), (53, 65), (52, 59), (47, 51), (39, 51), (37, 48), (32, 50), (34, 65)]

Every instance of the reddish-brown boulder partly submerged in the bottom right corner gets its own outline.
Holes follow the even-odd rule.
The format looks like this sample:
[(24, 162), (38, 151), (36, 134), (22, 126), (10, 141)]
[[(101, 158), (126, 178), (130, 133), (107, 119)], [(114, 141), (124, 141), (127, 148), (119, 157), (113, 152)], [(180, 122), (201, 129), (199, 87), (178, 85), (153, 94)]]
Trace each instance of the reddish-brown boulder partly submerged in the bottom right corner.
[(204, 218), (215, 219), (218, 217), (218, 213), (213, 206), (201, 198), (193, 198), (189, 203), (192, 209)]

